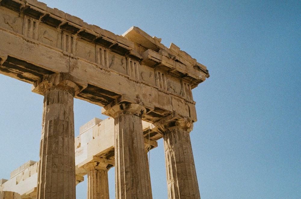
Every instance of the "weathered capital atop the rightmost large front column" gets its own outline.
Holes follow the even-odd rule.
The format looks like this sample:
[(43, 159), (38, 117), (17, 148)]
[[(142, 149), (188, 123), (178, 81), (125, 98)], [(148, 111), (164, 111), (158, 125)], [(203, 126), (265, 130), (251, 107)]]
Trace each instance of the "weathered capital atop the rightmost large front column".
[(177, 113), (172, 113), (159, 121), (153, 123), (156, 127), (153, 131), (166, 134), (170, 131), (192, 131), (193, 123), (189, 117), (183, 117)]

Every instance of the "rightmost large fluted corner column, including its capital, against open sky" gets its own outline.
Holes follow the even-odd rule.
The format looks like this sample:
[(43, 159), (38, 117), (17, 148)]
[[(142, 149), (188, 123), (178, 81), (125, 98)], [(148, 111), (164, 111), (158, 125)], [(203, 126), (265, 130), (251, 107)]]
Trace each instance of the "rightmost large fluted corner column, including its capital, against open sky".
[(172, 118), (156, 127), (163, 134), (169, 199), (200, 199), (187, 118)]

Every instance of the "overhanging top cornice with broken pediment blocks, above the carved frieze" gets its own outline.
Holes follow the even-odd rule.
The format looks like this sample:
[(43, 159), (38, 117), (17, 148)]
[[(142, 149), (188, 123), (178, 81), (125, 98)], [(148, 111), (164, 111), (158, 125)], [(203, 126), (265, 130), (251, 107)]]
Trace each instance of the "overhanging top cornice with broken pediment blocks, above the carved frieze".
[[(93, 45), (101, 45), (149, 67), (161, 68), (171, 76), (187, 81), (192, 88), (209, 77), (206, 67), (197, 63), (196, 59), (191, 58), (179, 47), (171, 44), (167, 48), (160, 43), (161, 39), (151, 37), (138, 27), (132, 27), (119, 36), (35, 0), (2, 0), (0, 4), (20, 15), (33, 18), (34, 21), (39, 20), (48, 26), (68, 32), (72, 37), (91, 42)], [(51, 40), (47, 38), (46, 32), (44, 38)]]

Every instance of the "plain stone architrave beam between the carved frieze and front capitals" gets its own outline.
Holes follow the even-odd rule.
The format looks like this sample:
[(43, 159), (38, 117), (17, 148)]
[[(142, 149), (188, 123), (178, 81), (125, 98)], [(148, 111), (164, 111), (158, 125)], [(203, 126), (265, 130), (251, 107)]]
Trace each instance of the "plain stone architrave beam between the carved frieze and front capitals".
[[(21, 35), (1, 29), (0, 34), (2, 35), (0, 48), (3, 48), (3, 50), (0, 50), (5, 52), (2, 54), (8, 55), (0, 67), (0, 73), (2, 74), (34, 84), (43, 75), (64, 72), (75, 79), (87, 81), (88, 83), (88, 86), (76, 98), (103, 107), (120, 95), (126, 94), (154, 105), (154, 110), (144, 116), (143, 119), (146, 121), (155, 122), (174, 111), (181, 113), (183, 116), (191, 117), (194, 121), (197, 120), (194, 101), (184, 100), (179, 95), (156, 88), (148, 83), (137, 82), (137, 80), (117, 73), (110, 68), (100, 68), (99, 65), (87, 60), (72, 57), (57, 49), (27, 41)], [(23, 48), (17, 48), (16, 46)], [(181, 87), (181, 83), (179, 85)], [(187, 92), (189, 90), (188, 88)], [(191, 94), (189, 96), (192, 98)]]

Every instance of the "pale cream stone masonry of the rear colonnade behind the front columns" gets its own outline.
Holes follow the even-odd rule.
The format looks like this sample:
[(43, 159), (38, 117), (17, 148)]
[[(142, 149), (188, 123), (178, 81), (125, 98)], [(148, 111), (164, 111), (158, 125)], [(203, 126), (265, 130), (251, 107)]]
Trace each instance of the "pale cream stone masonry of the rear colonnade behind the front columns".
[[(142, 121), (144, 132), (150, 132), (154, 126)], [(76, 185), (84, 181), (88, 174), (84, 168), (85, 164), (91, 162), (104, 162), (104, 167), (114, 166), (114, 119), (107, 118), (101, 120), (94, 118), (82, 125), (79, 130), (79, 136), (75, 139), (75, 170)], [(104, 141), (105, 140), (105, 141)], [(157, 142), (148, 140), (148, 135), (144, 135), (144, 147), (146, 151), (157, 147)], [(110, 158), (110, 159), (108, 159)], [(34, 163), (34, 164), (33, 164)], [(111, 166), (112, 165), (112, 166)], [(11, 179), (0, 180), (0, 191), (14, 191), (21, 195), (22, 199), (36, 199), (37, 181), (38, 181), (38, 162), (28, 161), (12, 173), (18, 173)], [(29, 177), (26, 173), (29, 173)], [(21, 179), (18, 184), (18, 179)], [(88, 183), (88, 182), (87, 182)], [(89, 184), (89, 183), (88, 183)], [(150, 187), (151, 190), (151, 187)]]

